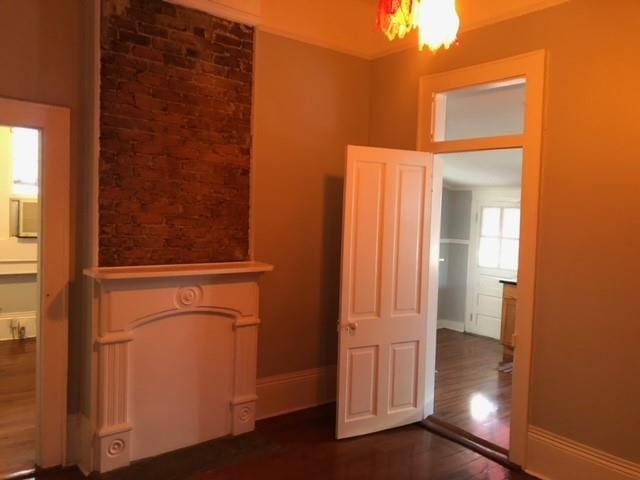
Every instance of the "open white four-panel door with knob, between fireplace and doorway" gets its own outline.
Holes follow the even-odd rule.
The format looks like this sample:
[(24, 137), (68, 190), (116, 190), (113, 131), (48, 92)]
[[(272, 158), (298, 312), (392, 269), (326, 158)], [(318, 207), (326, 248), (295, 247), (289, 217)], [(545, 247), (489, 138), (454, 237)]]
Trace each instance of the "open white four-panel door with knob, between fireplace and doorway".
[(337, 437), (423, 419), (432, 156), (347, 148)]

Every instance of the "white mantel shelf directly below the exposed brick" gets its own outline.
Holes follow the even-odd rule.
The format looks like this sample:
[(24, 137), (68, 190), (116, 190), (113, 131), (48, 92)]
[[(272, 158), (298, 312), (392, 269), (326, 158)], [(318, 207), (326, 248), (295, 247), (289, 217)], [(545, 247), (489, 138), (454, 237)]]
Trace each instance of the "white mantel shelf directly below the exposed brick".
[(179, 265), (141, 265), (135, 267), (86, 268), (84, 274), (96, 280), (136, 280), (145, 278), (241, 275), (270, 272), (273, 265), (263, 262), (193, 263)]

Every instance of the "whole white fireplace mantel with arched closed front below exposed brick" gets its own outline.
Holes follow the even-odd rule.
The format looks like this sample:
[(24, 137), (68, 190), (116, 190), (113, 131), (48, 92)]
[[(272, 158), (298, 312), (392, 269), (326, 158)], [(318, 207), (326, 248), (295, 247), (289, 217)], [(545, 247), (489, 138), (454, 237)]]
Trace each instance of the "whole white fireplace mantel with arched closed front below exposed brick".
[(260, 262), (85, 270), (94, 280), (93, 468), (253, 430)]

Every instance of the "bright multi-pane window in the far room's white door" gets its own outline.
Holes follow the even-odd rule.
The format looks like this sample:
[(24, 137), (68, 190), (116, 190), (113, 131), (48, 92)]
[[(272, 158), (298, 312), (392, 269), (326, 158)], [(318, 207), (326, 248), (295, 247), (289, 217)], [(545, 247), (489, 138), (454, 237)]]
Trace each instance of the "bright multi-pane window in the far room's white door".
[(483, 207), (481, 218), (478, 265), (517, 271), (520, 209)]

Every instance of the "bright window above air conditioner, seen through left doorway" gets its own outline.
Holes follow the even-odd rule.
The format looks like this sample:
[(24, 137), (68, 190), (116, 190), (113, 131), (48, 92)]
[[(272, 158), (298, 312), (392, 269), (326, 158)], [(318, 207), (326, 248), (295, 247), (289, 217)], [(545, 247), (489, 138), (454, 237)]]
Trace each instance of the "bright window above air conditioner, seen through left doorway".
[(33, 128), (12, 128), (12, 191), (16, 195), (38, 195), (40, 132)]

